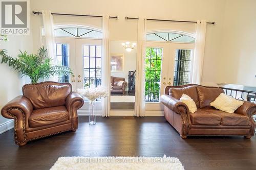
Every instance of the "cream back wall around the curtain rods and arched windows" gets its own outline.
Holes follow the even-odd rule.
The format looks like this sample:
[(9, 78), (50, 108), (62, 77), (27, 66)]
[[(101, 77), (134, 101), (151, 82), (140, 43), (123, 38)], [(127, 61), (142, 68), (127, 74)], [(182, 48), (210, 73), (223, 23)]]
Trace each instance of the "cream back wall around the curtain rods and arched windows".
[[(218, 75), (212, 70), (216, 70), (219, 63), (219, 49), (221, 48), (222, 28), (223, 28), (223, 13), (225, 9), (225, 0), (147, 0), (147, 1), (68, 1), (68, 0), (39, 0), (31, 1), (31, 10), (40, 11), (42, 9), (51, 10), (55, 13), (70, 13), (70, 14), (88, 14), (102, 15), (110, 14), (111, 16), (119, 16), (118, 20), (111, 19), (110, 21), (110, 38), (111, 40), (127, 40), (136, 41), (137, 39), (137, 21), (125, 20), (125, 16), (157, 19), (177, 19), (177, 20), (197, 20), (206, 19), (207, 21), (216, 21), (216, 25), (207, 26), (206, 45), (205, 45), (205, 60), (203, 70), (203, 82), (217, 82)], [(57, 17), (55, 17), (57, 18)], [(55, 19), (54, 18), (54, 19)], [(64, 17), (66, 21), (75, 22), (80, 20), (88, 23), (83, 17)], [(73, 18), (70, 19), (70, 18)], [(31, 17), (33, 25), (33, 43), (34, 51), (40, 45), (39, 27), (42, 26), (41, 16)], [(90, 18), (91, 19), (91, 18)], [(62, 21), (65, 21), (63, 19)], [(58, 21), (57, 21), (58, 22)], [(152, 24), (152, 23), (150, 23)], [(157, 26), (166, 25), (163, 22), (153, 23)], [(92, 23), (99, 27), (98, 23)], [(174, 26), (176, 23), (168, 23), (167, 25)], [(183, 27), (193, 28), (194, 25), (183, 23)], [(168, 28), (168, 26), (166, 27)]]

